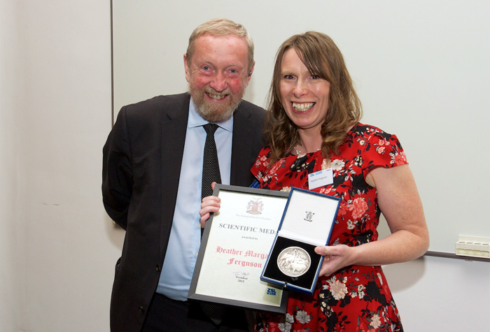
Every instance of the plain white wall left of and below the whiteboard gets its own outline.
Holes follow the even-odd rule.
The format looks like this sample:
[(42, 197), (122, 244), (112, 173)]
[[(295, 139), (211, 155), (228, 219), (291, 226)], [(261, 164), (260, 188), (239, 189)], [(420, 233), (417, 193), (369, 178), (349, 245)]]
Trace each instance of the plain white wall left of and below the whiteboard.
[[(109, 6), (0, 0), (0, 332), (109, 331), (124, 236), (100, 194)], [(406, 331), (488, 328), (490, 264), (426, 257), (385, 270)]]

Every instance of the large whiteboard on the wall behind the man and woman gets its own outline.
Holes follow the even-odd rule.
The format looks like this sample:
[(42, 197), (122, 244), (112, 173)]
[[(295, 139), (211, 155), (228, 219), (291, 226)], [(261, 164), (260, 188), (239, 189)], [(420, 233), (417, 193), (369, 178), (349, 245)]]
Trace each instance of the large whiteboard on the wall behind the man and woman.
[(430, 249), (490, 237), (490, 1), (113, 0), (113, 109), (187, 90), (197, 25), (244, 24), (255, 71), (244, 99), (265, 106), (279, 45), (316, 30), (339, 46), (362, 122), (395, 133), (423, 201)]

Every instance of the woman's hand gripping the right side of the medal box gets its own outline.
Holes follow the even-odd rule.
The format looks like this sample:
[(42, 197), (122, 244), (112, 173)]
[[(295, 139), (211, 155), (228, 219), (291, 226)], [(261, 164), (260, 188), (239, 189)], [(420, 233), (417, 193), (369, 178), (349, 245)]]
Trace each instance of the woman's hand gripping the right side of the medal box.
[(352, 265), (353, 247), (347, 245), (320, 245), (315, 248), (323, 256), (320, 275), (331, 275), (341, 268)]

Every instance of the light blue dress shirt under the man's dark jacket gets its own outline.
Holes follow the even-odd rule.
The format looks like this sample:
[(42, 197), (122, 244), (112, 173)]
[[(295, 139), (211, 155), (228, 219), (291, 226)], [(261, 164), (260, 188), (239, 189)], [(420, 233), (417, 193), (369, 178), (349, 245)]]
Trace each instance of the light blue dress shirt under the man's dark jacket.
[[(170, 233), (169, 245), (163, 262), (157, 292), (178, 301), (187, 301), (190, 281), (193, 277), (197, 252), (201, 244), (202, 160), (206, 131), (209, 123), (196, 111), (190, 99), (186, 143), (184, 145), (179, 192)], [(214, 133), (221, 181), (230, 184), (232, 156), (233, 117), (222, 123)]]

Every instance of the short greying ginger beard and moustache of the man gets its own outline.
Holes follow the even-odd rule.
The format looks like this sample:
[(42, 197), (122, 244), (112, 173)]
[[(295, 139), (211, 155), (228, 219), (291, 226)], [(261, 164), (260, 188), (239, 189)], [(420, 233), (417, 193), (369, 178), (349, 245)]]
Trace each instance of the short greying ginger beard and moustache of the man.
[[(218, 93), (216, 91), (208, 91), (207, 89), (195, 89), (193, 85), (189, 84), (189, 93), (193, 97), (194, 105), (196, 107), (197, 113), (202, 116), (204, 120), (209, 122), (225, 122), (232, 117), (235, 110), (241, 103), (241, 97), (244, 95), (245, 89), (243, 89), (239, 94), (232, 94), (228, 89), (224, 92)], [(230, 101), (225, 105), (214, 105), (205, 100), (204, 94), (210, 92), (211, 94), (228, 94)], [(230, 93), (228, 93), (230, 92)]]

